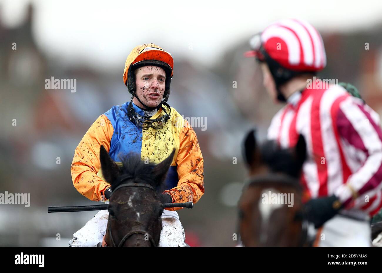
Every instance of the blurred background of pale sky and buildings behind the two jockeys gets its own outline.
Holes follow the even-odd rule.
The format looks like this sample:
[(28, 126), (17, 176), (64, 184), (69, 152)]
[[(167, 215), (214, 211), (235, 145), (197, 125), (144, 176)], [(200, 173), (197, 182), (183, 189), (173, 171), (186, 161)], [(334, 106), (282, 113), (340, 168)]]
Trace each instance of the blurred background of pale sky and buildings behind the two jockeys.
[[(151, 42), (175, 61), (169, 104), (206, 118), (206, 130), (194, 128), (205, 194), (178, 211), (186, 242), (235, 246), (246, 177), (241, 141), (253, 126), (264, 139), (282, 106), (268, 98), (255, 61), (243, 57), (249, 38), (278, 19), (308, 20), (327, 52), (320, 76), (351, 82), (382, 115), (381, 13), (380, 1), (0, 1), (0, 193), (31, 194), (30, 207), (0, 204), (0, 246), (68, 246), (95, 215), (48, 214), (47, 206), (96, 204), (73, 187), (74, 150), (99, 115), (130, 99), (126, 57)], [(45, 89), (51, 77), (76, 79), (76, 92)]]

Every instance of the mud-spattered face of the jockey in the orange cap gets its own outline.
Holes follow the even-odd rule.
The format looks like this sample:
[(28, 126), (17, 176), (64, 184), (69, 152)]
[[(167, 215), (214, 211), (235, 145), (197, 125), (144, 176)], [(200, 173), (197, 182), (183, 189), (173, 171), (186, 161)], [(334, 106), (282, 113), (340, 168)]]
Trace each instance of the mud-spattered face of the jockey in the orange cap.
[[(166, 87), (166, 73), (159, 66), (142, 66), (135, 71), (136, 95), (148, 107), (157, 107), (163, 99)], [(134, 97), (135, 105), (146, 108)]]

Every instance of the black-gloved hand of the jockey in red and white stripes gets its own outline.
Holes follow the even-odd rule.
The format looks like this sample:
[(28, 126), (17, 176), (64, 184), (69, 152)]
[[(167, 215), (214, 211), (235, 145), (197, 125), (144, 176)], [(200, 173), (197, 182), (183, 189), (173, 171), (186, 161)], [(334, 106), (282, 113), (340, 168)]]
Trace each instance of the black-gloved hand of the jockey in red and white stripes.
[(304, 205), (304, 216), (314, 224), (315, 228), (324, 225), (326, 221), (333, 218), (342, 208), (342, 204), (334, 194), (329, 197), (320, 197), (309, 200)]

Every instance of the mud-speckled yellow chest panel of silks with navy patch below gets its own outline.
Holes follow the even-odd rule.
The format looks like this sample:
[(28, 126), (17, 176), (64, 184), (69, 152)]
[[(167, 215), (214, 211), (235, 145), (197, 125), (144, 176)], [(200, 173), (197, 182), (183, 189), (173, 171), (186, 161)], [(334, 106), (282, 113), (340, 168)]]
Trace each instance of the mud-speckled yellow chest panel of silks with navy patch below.
[[(163, 105), (163, 107), (165, 107)], [(168, 108), (166, 107), (168, 113)], [(151, 119), (156, 119), (164, 115), (163, 110), (158, 111)], [(170, 119), (160, 129), (149, 128), (142, 130), (142, 160), (149, 158), (150, 163), (158, 164), (165, 160), (175, 148), (174, 158), (178, 157), (180, 147), (179, 133), (184, 126), (183, 117), (171, 107)], [(167, 173), (167, 189), (171, 189), (178, 185), (178, 173), (176, 172), (176, 162), (172, 160), (171, 167)]]

